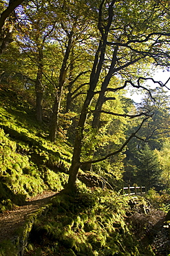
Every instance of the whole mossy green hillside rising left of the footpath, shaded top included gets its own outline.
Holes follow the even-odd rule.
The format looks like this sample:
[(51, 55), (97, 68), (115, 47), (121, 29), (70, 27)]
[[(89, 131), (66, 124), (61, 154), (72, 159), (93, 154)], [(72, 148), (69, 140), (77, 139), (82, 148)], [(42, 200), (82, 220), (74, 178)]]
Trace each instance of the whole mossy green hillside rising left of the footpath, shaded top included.
[(47, 140), (34, 110), (10, 89), (0, 89), (0, 211), (21, 205), (43, 190), (59, 191), (67, 182), (72, 149)]

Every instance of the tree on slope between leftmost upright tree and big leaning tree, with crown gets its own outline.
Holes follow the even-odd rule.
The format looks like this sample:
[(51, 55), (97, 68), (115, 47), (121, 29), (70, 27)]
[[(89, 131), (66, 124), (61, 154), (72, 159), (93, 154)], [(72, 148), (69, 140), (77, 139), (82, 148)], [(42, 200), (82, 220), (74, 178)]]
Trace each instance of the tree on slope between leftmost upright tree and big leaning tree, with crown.
[[(63, 4), (61, 7), (63, 11), (63, 20), (60, 22), (60, 27), (62, 31), (61, 33), (63, 33), (63, 35), (60, 33), (61, 38), (59, 38), (58, 40), (63, 48), (63, 61), (59, 71), (59, 81), (57, 84), (56, 96), (52, 109), (52, 118), (49, 134), (49, 138), (52, 142), (55, 141), (57, 129), (59, 128), (59, 113), (61, 110), (63, 88), (65, 86), (68, 67), (73, 67), (72, 53), (74, 51), (74, 47), (81, 46), (84, 43), (86, 39), (85, 31), (89, 33), (89, 24), (92, 23), (92, 21), (89, 21), (88, 19), (89, 7), (84, 2), (82, 3), (80, 1), (75, 1), (74, 5), (71, 2), (67, 3), (66, 5), (65, 1), (61, 1), (61, 4)], [(83, 73), (86, 72), (87, 71), (83, 71)], [(79, 74), (75, 79), (77, 79), (78, 77)], [(72, 86), (72, 82), (70, 82), (70, 84), (68, 85), (69, 90), (70, 86)], [(68, 96), (70, 96), (70, 94)], [(67, 100), (69, 100), (69, 98), (67, 98)]]

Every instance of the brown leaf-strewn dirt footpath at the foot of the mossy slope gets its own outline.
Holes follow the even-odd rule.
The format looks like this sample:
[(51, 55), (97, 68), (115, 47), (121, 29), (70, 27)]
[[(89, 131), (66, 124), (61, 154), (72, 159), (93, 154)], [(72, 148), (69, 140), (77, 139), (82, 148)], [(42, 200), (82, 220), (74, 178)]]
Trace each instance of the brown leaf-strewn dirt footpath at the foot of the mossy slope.
[(14, 210), (8, 210), (0, 214), (0, 241), (10, 239), (14, 236), (15, 230), (21, 227), (28, 214), (38, 210), (41, 206), (50, 202), (56, 192), (45, 191), (43, 194), (34, 196), (25, 205), (17, 206)]

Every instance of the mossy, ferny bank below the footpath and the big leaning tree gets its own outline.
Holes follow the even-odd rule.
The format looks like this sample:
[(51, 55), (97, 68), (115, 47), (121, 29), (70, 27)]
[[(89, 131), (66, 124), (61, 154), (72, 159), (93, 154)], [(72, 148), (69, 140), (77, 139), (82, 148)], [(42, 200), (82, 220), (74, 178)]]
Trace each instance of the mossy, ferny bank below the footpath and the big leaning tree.
[(34, 224), (25, 255), (154, 255), (130, 232), (128, 199), (120, 194), (81, 186), (52, 203), (52, 211)]

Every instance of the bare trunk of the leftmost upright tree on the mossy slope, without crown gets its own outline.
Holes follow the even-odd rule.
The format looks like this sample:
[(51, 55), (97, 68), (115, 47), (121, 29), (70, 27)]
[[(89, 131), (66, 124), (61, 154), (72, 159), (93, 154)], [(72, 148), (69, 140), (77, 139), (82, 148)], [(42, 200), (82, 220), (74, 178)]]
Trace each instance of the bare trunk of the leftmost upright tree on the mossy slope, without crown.
[(36, 92), (36, 120), (38, 122), (42, 122), (43, 120), (43, 45), (39, 46), (39, 56), (38, 56), (38, 71), (36, 74), (36, 82), (35, 82), (35, 92)]

